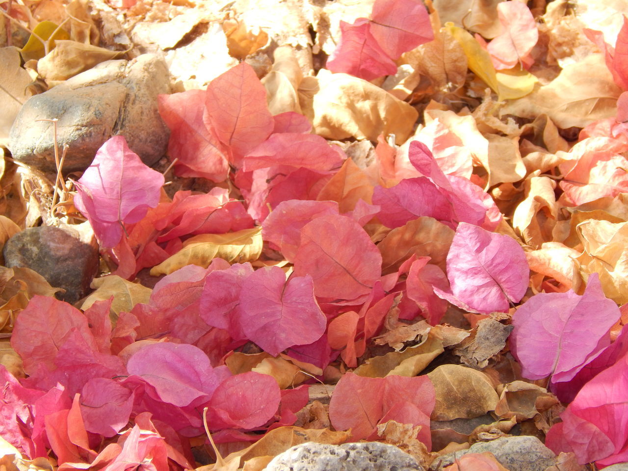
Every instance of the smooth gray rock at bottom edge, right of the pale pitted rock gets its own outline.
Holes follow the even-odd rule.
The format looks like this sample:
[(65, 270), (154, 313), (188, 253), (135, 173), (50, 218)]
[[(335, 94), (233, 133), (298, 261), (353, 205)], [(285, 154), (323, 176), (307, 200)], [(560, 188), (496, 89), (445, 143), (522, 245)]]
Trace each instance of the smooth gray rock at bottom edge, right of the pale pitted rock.
[[(509, 471), (544, 471), (555, 464), (556, 455), (536, 436), (506, 436), (497, 440), (478, 442), (468, 450), (448, 453), (436, 458), (430, 470), (444, 468), (467, 453), (490, 452)], [(439, 468), (439, 466), (441, 468)]]

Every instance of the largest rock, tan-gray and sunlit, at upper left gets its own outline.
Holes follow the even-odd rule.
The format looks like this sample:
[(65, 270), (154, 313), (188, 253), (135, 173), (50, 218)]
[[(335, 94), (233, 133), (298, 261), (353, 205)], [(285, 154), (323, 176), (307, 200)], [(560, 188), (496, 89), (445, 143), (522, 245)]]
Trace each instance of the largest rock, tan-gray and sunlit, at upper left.
[(15, 160), (55, 171), (53, 124), (60, 149), (68, 145), (64, 171), (85, 170), (111, 136), (122, 134), (146, 165), (166, 151), (170, 131), (161, 120), (157, 95), (170, 93), (170, 75), (160, 58), (108, 60), (26, 100), (11, 127)]

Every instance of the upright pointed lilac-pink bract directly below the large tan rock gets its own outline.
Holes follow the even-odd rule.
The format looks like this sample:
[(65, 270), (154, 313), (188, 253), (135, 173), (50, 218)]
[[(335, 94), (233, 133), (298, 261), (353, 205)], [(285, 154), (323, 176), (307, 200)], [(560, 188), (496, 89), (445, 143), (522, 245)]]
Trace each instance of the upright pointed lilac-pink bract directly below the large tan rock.
[(124, 136), (98, 149), (92, 165), (76, 182), (74, 205), (87, 217), (102, 247), (116, 246), (122, 224), (138, 222), (160, 200), (164, 178), (139, 159)]

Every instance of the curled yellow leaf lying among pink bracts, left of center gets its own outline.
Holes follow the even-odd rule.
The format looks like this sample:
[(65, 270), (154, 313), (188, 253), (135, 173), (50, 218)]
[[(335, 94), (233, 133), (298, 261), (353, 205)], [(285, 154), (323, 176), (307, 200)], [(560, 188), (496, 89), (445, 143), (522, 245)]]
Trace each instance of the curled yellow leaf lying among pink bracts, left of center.
[(186, 265), (207, 268), (215, 258), (229, 263), (257, 260), (262, 252), (261, 227), (227, 234), (200, 234), (183, 242), (183, 249), (151, 269), (152, 276), (170, 274)]

